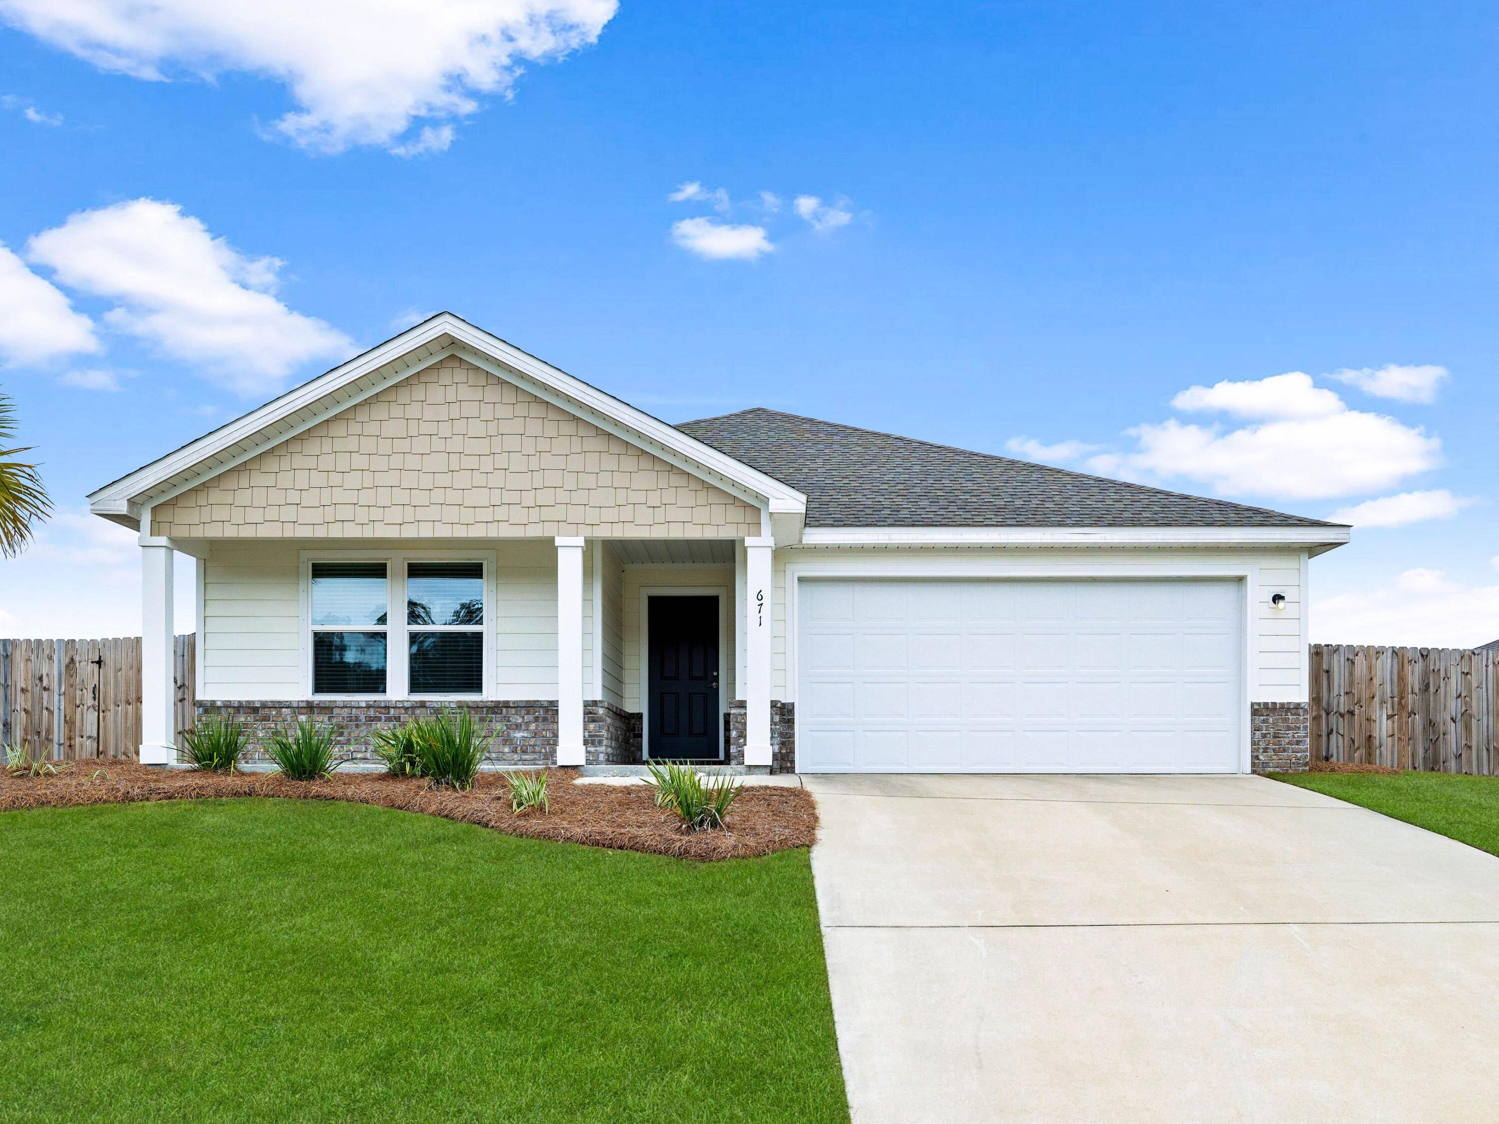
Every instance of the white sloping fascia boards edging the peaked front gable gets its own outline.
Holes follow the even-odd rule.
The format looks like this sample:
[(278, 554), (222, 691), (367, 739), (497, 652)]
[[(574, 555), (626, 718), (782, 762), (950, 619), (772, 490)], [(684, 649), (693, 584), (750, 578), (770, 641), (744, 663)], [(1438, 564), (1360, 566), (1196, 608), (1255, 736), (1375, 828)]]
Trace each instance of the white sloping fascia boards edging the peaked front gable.
[[(204, 460), (223, 453), (240, 442), (253, 442), (256, 435), (267, 427), (274, 426), (277, 421), (297, 414), (298, 411), (307, 409), (309, 406), (315, 406), (319, 399), (324, 399), (339, 388), (364, 378), (388, 363), (394, 363), (403, 355), (427, 346), (444, 336), (454, 340), (457, 345), (463, 345), (466, 352), (472, 352), (466, 354), (465, 358), (472, 360), (474, 355), (478, 355), (504, 364), (510, 370), (501, 375), (502, 378), (513, 378), (513, 373), (520, 373), (534, 384), (529, 387), (531, 390), (547, 388), (553, 394), (559, 393), (570, 400), (567, 405), (561, 402), (555, 405), (564, 406), (570, 411), (585, 408), (588, 414), (592, 415), (589, 418), (591, 421), (607, 420), (612, 424), (606, 426), (606, 429), (616, 432), (618, 436), (627, 438), (631, 444), (642, 444), (642, 441), (645, 441), (648, 445), (655, 445), (661, 451), (670, 451), (673, 456), (669, 459), (673, 460), (673, 463), (679, 463), (679, 459), (685, 459), (688, 463), (679, 463), (679, 466), (693, 471), (696, 475), (708, 471), (736, 484), (736, 492), (747, 492), (752, 495), (754, 502), (760, 507), (769, 504), (773, 508), (796, 511), (805, 511), (806, 508), (806, 496), (800, 492), (796, 492), (778, 480), (773, 480), (763, 472), (757, 472), (748, 465), (744, 465), (733, 457), (729, 457), (718, 450), (687, 436), (673, 426), (667, 426), (664, 421), (652, 418), (649, 414), (643, 414), (634, 406), (630, 406), (601, 390), (589, 387), (586, 382), (576, 379), (547, 363), (543, 363), (534, 355), (528, 355), (519, 348), (505, 343), (498, 336), (492, 336), (487, 331), (475, 328), (472, 324), (451, 313), (441, 313), (414, 328), (408, 328), (400, 336), (372, 348), (370, 351), (349, 360), (343, 366), (334, 367), (325, 375), (321, 375), (316, 379), (288, 391), (279, 399), (265, 403), (259, 409), (250, 411), (243, 418), (237, 418), (235, 421), (216, 429), (213, 433), (184, 445), (175, 453), (169, 453), (168, 456), (136, 469), (127, 477), (91, 492), (88, 495), (90, 507), (97, 514), (108, 519), (111, 514), (117, 513), (102, 508), (102, 504), (112, 501), (138, 502), (139, 498), (147, 496), (153, 489), (160, 487), (174, 477), (190, 472), (193, 466), (201, 465)], [(408, 378), (421, 366), (429, 366), (444, 354), (451, 354), (453, 349), (454, 348), (450, 345), (439, 354), (427, 357), (420, 364), (412, 364), (400, 372), (394, 372), (391, 381)], [(376, 390), (379, 387), (376, 387)], [(375, 390), (370, 393), (375, 393)], [(546, 394), (543, 397), (552, 400), (552, 394)], [(288, 436), (294, 436), (295, 432), (301, 432), (303, 429), (324, 420), (328, 414), (348, 409), (354, 402), (355, 399), (348, 399), (331, 403), (328, 411), (318, 411), (316, 417), (294, 427), (294, 430), (282, 430), (270, 435), (265, 444), (279, 444)], [(621, 426), (628, 432), (621, 432)], [(219, 475), (234, 463), (238, 463), (249, 456), (255, 456), (258, 451), (261, 451), (259, 445), (255, 450), (235, 457), (232, 462), (213, 465), (211, 469), (202, 475), (193, 474), (193, 483)], [(159, 501), (162, 496), (154, 496), (153, 499)]]

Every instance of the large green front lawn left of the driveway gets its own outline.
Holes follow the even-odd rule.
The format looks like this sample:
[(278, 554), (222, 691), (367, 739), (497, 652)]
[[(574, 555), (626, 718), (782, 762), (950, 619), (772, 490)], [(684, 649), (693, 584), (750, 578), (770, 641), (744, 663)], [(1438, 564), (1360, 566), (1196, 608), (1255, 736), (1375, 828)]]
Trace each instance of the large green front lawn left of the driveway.
[(0, 815), (0, 1121), (847, 1121), (806, 851), (346, 803)]

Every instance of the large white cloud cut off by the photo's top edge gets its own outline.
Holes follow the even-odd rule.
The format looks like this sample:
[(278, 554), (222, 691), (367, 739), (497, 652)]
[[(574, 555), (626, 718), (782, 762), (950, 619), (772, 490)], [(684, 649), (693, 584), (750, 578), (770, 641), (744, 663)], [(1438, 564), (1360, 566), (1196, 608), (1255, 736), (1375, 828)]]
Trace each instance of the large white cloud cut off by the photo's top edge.
[(300, 109), (276, 129), (315, 151), (402, 147), (418, 121), (508, 94), (526, 61), (598, 39), (616, 0), (0, 0), (0, 19), (105, 70), (246, 72)]

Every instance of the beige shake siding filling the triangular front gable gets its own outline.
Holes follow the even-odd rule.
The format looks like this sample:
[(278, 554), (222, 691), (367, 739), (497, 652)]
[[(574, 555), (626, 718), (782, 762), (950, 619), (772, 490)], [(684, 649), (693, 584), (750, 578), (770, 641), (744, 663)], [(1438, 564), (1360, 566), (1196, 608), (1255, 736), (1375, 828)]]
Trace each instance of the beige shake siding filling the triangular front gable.
[(177, 538), (741, 538), (758, 508), (457, 357), (151, 510)]

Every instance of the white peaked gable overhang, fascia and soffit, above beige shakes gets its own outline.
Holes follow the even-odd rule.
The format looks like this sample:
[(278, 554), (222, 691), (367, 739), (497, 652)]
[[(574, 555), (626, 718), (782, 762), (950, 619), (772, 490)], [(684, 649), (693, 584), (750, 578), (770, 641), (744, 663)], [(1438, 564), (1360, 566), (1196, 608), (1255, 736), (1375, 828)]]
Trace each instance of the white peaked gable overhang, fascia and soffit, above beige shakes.
[(445, 355), (462, 355), (703, 480), (752, 502), (763, 502), (772, 516), (793, 516), (799, 526), (805, 499), (794, 489), (703, 445), (628, 402), (543, 363), (451, 312), (439, 312), (264, 406), (105, 484), (88, 495), (90, 507), (94, 514), (135, 528), (147, 505), (219, 475)]

